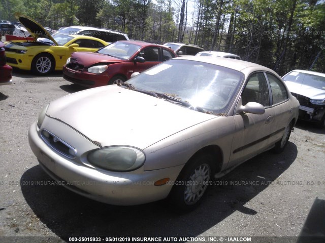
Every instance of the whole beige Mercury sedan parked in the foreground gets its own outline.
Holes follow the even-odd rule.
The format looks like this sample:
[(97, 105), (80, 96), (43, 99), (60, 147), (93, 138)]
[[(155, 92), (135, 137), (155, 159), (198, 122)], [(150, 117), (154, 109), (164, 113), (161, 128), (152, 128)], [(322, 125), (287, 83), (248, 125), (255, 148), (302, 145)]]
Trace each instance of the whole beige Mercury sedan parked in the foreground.
[(76, 193), (112, 205), (168, 198), (191, 210), (214, 178), (268, 149), (281, 152), (298, 109), (266, 67), (179, 57), (51, 102), (29, 144), (41, 167)]

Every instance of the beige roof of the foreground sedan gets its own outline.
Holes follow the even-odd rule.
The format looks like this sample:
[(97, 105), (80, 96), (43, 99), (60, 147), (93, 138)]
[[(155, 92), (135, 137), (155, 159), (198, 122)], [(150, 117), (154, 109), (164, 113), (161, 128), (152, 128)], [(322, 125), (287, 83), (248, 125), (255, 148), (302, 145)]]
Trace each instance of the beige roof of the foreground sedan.
[(250, 74), (254, 71), (267, 71), (274, 75), (276, 75), (278, 78), (281, 78), (279, 74), (277, 74), (275, 71), (273, 71), (270, 68), (267, 68), (265, 66), (253, 63), (253, 62), (247, 62), (242, 61), (238, 59), (231, 59), (231, 58), (213, 58), (213, 57), (207, 57), (207, 56), (182, 56), (177, 57), (174, 59), (182, 59), (182, 60), (190, 60), (190, 61), (199, 61), (199, 62), (205, 62), (210, 63), (222, 67), (231, 68), (237, 71), (240, 71), (246, 75)]

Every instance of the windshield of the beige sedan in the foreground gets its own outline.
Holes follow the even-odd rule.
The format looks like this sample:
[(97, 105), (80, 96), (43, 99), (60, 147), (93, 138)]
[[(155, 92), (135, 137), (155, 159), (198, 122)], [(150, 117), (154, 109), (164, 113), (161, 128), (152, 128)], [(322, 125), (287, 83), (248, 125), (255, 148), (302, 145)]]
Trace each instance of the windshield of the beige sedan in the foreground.
[(205, 113), (228, 111), (244, 75), (231, 68), (191, 60), (169, 60), (124, 83), (175, 104)]

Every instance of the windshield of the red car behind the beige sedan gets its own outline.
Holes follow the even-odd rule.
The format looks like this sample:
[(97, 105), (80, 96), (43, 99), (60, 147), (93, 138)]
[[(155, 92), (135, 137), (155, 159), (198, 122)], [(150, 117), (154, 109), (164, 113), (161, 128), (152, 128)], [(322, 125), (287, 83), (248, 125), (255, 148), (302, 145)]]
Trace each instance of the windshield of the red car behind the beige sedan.
[(108, 45), (105, 48), (102, 48), (101, 50), (98, 51), (98, 53), (116, 57), (118, 59), (122, 60), (127, 60), (135, 52), (137, 52), (141, 46), (135, 45), (135, 44), (130, 44), (130, 43), (125, 43), (125, 42), (116, 42), (111, 45)]

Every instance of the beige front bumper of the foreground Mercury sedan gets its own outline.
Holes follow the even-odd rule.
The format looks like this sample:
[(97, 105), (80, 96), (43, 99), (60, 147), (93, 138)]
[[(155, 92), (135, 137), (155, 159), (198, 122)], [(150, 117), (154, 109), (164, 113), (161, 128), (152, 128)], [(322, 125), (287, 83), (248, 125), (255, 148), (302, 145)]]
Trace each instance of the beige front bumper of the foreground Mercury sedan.
[[(88, 147), (89, 151), (89, 148), (94, 149), (96, 145), (60, 121), (51, 118), (47, 120), (50, 120), (48, 125), (56, 128), (58, 137), (77, 148), (78, 158), (64, 157), (50, 148), (41, 138), (36, 123), (31, 125), (28, 132), (29, 145), (45, 172), (60, 185), (85, 197), (112, 205), (150, 203), (166, 198), (172, 189), (172, 185), (155, 186), (154, 182), (167, 177), (170, 181), (175, 181), (183, 168), (182, 165), (144, 171), (144, 167), (141, 167), (132, 172), (110, 172), (91, 168), (83, 163), (83, 158), (86, 157), (83, 146)], [(48, 127), (46, 126), (46, 129)], [(72, 139), (69, 141), (69, 138)]]

